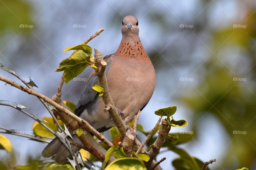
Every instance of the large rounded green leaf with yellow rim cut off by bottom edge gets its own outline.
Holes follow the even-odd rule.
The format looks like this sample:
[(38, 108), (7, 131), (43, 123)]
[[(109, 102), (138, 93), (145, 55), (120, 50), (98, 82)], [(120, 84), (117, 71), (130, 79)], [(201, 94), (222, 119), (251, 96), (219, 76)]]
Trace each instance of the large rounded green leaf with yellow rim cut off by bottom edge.
[(137, 158), (121, 158), (111, 162), (105, 170), (147, 170), (145, 164)]

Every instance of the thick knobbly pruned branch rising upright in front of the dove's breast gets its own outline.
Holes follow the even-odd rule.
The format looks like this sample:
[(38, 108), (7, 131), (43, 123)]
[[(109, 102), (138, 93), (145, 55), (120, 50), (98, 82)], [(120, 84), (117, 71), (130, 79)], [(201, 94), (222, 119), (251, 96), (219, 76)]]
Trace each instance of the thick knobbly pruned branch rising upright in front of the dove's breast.
[(97, 70), (95, 70), (96, 75), (98, 76), (99, 85), (103, 87), (104, 94), (102, 96), (103, 101), (105, 103), (106, 109), (108, 109), (111, 118), (114, 124), (117, 126), (117, 129), (120, 131), (121, 135), (124, 137), (126, 134), (127, 126), (123, 122), (121, 116), (117, 112), (113, 100), (110, 96), (109, 87), (107, 85), (107, 78), (105, 73), (105, 68), (107, 63), (103, 60), (102, 53), (94, 48), (94, 56), (95, 56), (95, 66), (97, 66)]

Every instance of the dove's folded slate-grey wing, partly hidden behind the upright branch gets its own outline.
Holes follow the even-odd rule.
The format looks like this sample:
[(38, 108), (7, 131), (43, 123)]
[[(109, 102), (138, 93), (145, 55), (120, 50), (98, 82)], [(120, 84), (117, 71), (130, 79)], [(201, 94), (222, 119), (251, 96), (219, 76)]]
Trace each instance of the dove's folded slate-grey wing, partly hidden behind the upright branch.
[[(106, 75), (111, 66), (112, 56), (113, 56), (113, 54), (109, 54), (104, 57), (104, 60), (107, 62)], [(99, 85), (98, 77), (95, 74), (91, 74), (89, 79), (86, 82), (86, 87), (81, 95), (81, 98), (77, 103), (77, 107), (75, 108), (75, 114), (77, 116), (80, 116), (85, 109), (85, 105), (88, 104), (89, 102), (93, 101), (95, 99), (95, 97), (98, 95), (98, 92), (94, 91), (91, 88), (95, 84)]]

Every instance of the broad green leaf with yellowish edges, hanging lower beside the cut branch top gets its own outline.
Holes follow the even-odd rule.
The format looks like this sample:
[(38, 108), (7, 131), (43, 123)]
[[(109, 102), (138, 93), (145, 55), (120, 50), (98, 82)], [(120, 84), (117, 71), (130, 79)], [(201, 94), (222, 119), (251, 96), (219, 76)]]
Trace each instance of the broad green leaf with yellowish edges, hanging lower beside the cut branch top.
[(72, 56), (63, 60), (56, 71), (64, 71), (64, 80), (65, 83), (68, 83), (70, 80), (82, 73), (89, 63), (90, 57), (86, 56), (82, 50), (78, 50)]

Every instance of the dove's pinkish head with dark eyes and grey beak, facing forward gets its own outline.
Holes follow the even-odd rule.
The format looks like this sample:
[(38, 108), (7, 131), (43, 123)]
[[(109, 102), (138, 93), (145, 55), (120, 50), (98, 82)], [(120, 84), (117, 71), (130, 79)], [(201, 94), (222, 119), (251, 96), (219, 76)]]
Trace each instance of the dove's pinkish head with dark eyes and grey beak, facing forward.
[(127, 15), (122, 21), (122, 34), (139, 34), (138, 19), (133, 15)]

